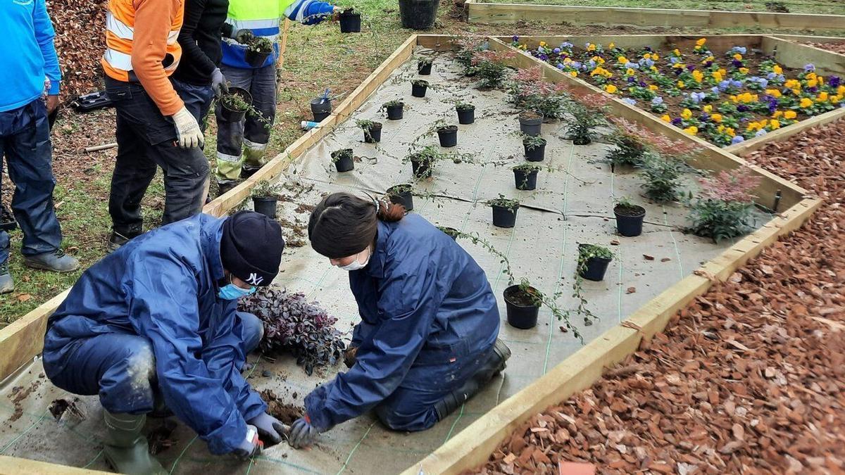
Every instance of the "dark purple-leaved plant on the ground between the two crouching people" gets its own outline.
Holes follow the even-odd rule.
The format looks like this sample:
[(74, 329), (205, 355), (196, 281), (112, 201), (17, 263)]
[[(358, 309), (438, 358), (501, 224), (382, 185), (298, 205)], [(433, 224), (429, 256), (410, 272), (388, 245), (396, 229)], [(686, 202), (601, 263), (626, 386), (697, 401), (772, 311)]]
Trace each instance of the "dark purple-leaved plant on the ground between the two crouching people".
[(345, 348), (337, 319), (326, 314), (317, 303), (308, 303), (303, 293), (287, 292), (282, 287), (262, 287), (243, 298), (238, 309), (264, 322), (264, 352), (289, 351), (310, 375), (314, 367), (332, 365), (342, 358)]

